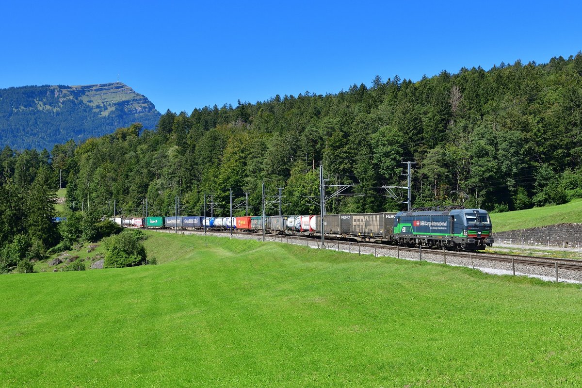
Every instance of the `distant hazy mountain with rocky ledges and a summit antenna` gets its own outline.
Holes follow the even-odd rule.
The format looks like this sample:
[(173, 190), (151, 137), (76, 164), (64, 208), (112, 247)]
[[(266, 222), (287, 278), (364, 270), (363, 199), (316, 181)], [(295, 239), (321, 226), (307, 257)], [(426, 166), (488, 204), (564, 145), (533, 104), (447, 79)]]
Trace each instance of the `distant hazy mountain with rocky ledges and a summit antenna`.
[(123, 83), (0, 89), (0, 147), (47, 148), (141, 123), (153, 129), (160, 113)]

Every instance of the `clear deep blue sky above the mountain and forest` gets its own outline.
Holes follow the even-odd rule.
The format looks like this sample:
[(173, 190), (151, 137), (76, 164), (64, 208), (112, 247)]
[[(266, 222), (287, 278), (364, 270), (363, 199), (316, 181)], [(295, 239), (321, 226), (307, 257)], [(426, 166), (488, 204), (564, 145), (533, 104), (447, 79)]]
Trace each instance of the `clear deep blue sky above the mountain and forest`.
[(162, 113), (582, 50), (581, 2), (3, 2), (0, 88), (117, 80)]

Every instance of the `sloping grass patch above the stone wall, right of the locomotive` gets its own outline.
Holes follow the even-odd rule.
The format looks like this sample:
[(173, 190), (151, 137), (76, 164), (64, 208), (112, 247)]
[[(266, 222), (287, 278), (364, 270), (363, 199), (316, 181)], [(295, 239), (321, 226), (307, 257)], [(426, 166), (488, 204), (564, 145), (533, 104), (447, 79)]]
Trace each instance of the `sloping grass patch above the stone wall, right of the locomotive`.
[(563, 205), (491, 214), (494, 234), (506, 230), (570, 222), (582, 222), (582, 199), (573, 200)]

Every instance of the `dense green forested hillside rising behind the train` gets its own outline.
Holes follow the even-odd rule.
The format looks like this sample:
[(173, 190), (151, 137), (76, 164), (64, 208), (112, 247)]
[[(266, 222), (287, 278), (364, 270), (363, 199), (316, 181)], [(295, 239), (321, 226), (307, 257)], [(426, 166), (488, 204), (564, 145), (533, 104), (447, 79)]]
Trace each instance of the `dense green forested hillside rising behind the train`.
[[(582, 52), (417, 82), (377, 76), (337, 94), (168, 111), (155, 130), (132, 124), (56, 145), (50, 157), (5, 148), (0, 241), (28, 236), (30, 246), (48, 248), (68, 233), (46, 223), (52, 213), (41, 205), (59, 170), (68, 207), (90, 207), (88, 225), (112, 215), (114, 203), (118, 214), (141, 216), (146, 199), (152, 216), (173, 215), (175, 197), (180, 215), (200, 215), (205, 193), (218, 204), (214, 214), (226, 215), (230, 188), (235, 200), (249, 193), (259, 214), (262, 181), (269, 201), (283, 188), (283, 213), (318, 213), (308, 197), (319, 195), (320, 162), (328, 185), (355, 184), (352, 193), (364, 194), (330, 200), (328, 213), (403, 209), (379, 188), (406, 186), (402, 161), (416, 161), (414, 207), (459, 203), (463, 191), (467, 207), (524, 209), (582, 198), (581, 158)], [(268, 214), (278, 213), (276, 202)]]

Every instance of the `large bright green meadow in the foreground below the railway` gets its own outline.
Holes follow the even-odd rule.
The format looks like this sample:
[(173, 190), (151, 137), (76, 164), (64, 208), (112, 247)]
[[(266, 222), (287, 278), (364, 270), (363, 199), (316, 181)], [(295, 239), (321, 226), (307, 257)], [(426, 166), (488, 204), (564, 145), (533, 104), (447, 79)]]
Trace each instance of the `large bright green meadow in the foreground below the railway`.
[(160, 265), (0, 276), (0, 386), (582, 385), (580, 286), (148, 234)]

